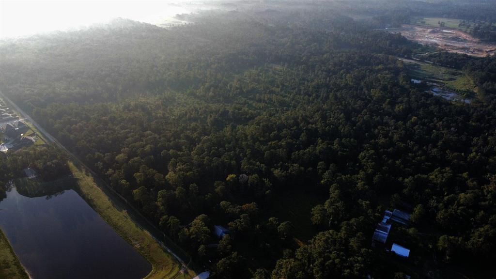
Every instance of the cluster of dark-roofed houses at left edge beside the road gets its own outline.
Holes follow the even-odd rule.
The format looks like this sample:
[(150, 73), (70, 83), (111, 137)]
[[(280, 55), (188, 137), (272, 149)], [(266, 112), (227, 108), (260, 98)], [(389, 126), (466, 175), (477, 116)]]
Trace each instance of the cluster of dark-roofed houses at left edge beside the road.
[(22, 121), (12, 121), (0, 125), (0, 135), (4, 143), (0, 144), (0, 151), (6, 152), (16, 145), (28, 145), (36, 142), (36, 136), (25, 136), (29, 127)]

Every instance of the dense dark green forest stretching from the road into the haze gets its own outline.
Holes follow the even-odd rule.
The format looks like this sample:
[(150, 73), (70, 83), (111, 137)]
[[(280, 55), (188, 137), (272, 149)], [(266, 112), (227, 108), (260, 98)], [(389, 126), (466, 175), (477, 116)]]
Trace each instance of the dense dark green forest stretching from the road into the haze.
[[(215, 278), (490, 278), (496, 59), (431, 54), (480, 90), (470, 104), (435, 97), (398, 60), (427, 47), (376, 30), (403, 19), (374, 9), (383, 17), (211, 11), (171, 29), (118, 19), (2, 41), (0, 89)], [(49, 179), (66, 166), (46, 148), (10, 166)], [(412, 212), (397, 232), (409, 261), (371, 246), (398, 207)]]

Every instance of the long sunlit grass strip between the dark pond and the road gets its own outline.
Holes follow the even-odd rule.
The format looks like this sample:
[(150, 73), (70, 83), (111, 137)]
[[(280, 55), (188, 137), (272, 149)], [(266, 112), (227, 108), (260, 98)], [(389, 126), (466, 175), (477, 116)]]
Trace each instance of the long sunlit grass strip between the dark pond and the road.
[(69, 162), (72, 175), (77, 179), (75, 190), (79, 195), (108, 222), (152, 265), (151, 273), (146, 279), (191, 278), (180, 273), (181, 265), (166, 252), (160, 244), (135, 224), (123, 209), (117, 209), (105, 193), (98, 188), (91, 174), (87, 174)]

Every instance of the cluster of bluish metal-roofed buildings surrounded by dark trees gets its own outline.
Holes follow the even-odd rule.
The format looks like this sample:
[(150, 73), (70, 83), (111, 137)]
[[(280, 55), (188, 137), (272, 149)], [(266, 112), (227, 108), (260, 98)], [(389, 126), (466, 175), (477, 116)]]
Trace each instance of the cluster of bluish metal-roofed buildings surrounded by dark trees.
[[(399, 209), (394, 209), (392, 212), (389, 210), (385, 210), (384, 217), (382, 217), (382, 220), (377, 223), (375, 231), (372, 235), (372, 245), (375, 246), (376, 242), (382, 243), (384, 245), (386, 244), (393, 222), (402, 225), (408, 225), (410, 222), (410, 214)], [(408, 258), (410, 256), (410, 250), (408, 248), (394, 242), (392, 243), (391, 249), (389, 251), (394, 252), (396, 255), (404, 258)]]

